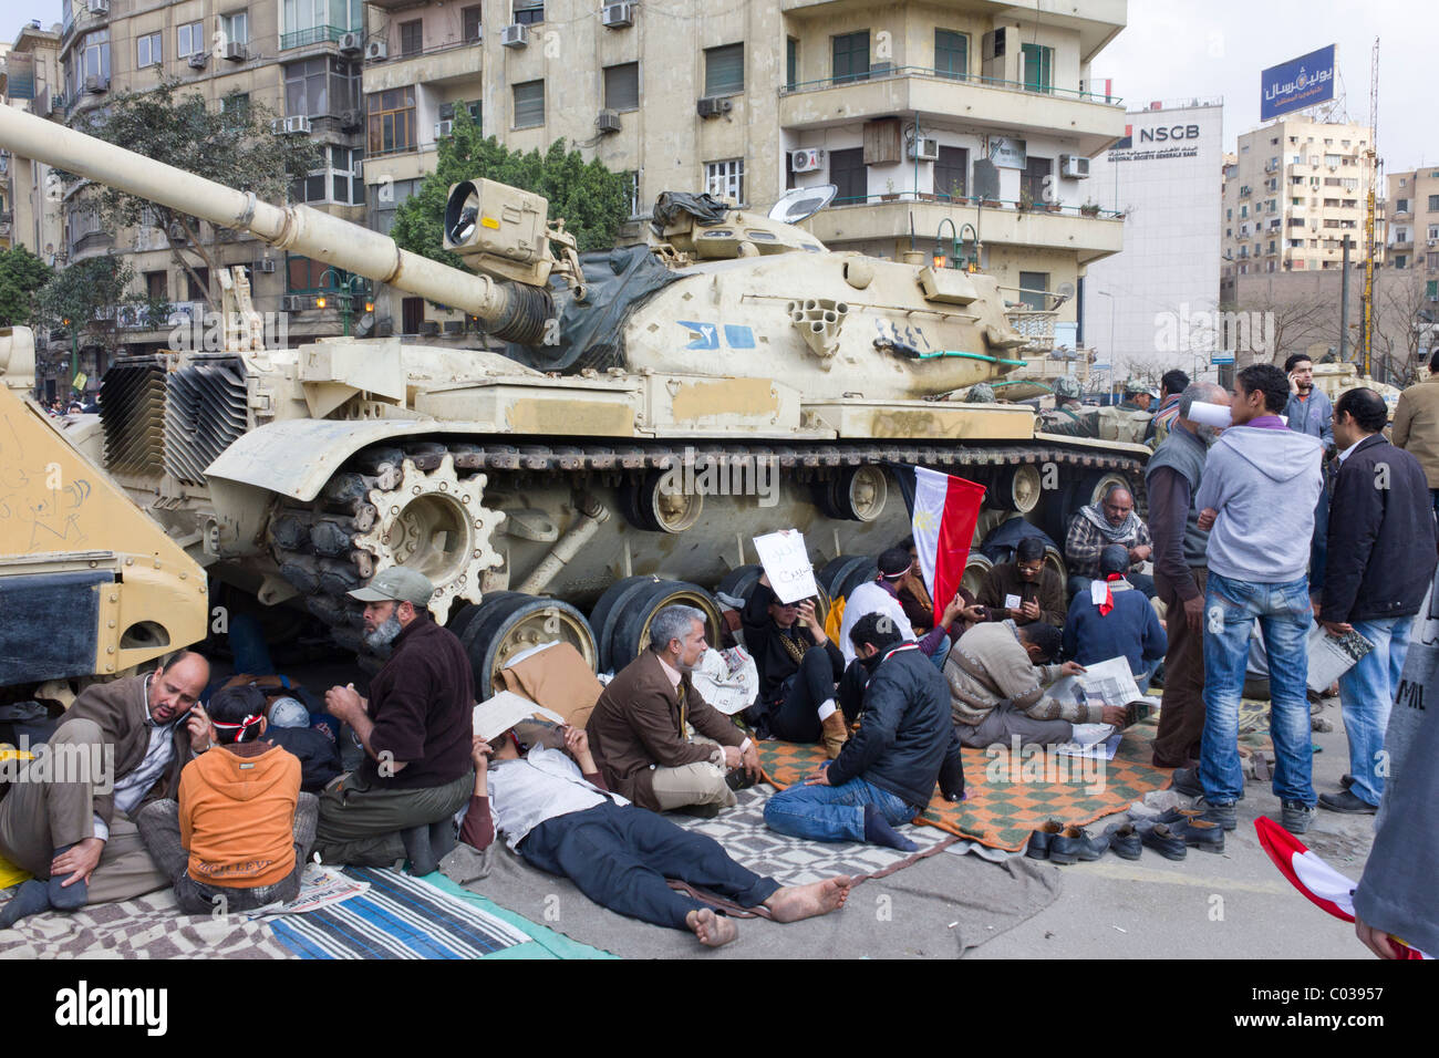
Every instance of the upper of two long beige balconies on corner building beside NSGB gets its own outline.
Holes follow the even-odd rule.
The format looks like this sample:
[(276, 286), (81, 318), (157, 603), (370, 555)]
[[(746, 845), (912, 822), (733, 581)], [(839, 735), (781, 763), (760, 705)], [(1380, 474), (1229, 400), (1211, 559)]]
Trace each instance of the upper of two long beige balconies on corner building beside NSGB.
[(784, 128), (823, 128), (895, 114), (1078, 137), (1078, 153), (1086, 157), (1122, 137), (1125, 122), (1118, 96), (1068, 88), (1038, 91), (1016, 81), (958, 78), (927, 66), (872, 69), (859, 79), (826, 78), (780, 91)]

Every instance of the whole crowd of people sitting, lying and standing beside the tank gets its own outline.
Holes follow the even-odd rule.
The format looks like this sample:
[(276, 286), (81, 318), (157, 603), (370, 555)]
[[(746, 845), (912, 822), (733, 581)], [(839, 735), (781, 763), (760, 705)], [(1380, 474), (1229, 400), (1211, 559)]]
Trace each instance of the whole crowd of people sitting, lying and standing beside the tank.
[[(499, 836), (606, 907), (722, 944), (734, 921), (666, 878), (777, 921), (832, 913), (852, 885), (836, 877), (783, 887), (666, 818), (734, 806), (761, 777), (757, 740), (817, 744), (827, 757), (766, 800), (771, 829), (914, 851), (899, 828), (935, 789), (966, 796), (961, 747), (1048, 747), (1073, 740), (1079, 724), (1134, 724), (1135, 702), (1055, 691), (1115, 658), (1141, 689), (1163, 665), (1154, 764), (1176, 769), (1174, 789), (1197, 799), (1145, 844), (1176, 856), (1186, 845), (1222, 849), (1246, 796), (1239, 704), (1256, 629), (1281, 825), (1304, 833), (1317, 805), (1376, 812), (1396, 750), (1387, 721), (1436, 564), (1439, 384), (1406, 393), (1392, 443), (1377, 393), (1354, 389), (1330, 407), (1302, 364), (1286, 367), (1246, 367), (1232, 394), (1187, 380), (1171, 390), (1177, 380), (1166, 376), (1148, 518), (1122, 485), (1076, 511), (1063, 541), (1068, 583), (1046, 561), (1052, 543), (1027, 523), (1010, 523), (1020, 533), (1006, 537), (1007, 560), (977, 593), (948, 600), (931, 597), (914, 541), (899, 541), (849, 592), (837, 633), (816, 600), (781, 602), (760, 577), (740, 615), (758, 675), (743, 723), (695, 688), (709, 649), (704, 613), (669, 606), (583, 727), (528, 720), (479, 738), (471, 662), (426, 609), (433, 584), (404, 567), (351, 592), (367, 641), (389, 658), (368, 697), (337, 685), (322, 707), (309, 702), (321, 731), (299, 730), (318, 746), (288, 718), (292, 708), (311, 717), (283, 678), (242, 675), (207, 695), (210, 665), (196, 652), (92, 685), (50, 741), (112, 754), (112, 785), (66, 774), (17, 783), (0, 800), (0, 855), (33, 875), (0, 908), (0, 928), (165, 885), (191, 914), (217, 903), (253, 908), (294, 898), (315, 854), (325, 864), (407, 861), (427, 874), (458, 841), (485, 849)], [(1230, 426), (1200, 423), (1199, 402), (1229, 406)], [(1322, 795), (1307, 694), (1315, 622), (1368, 645), (1340, 679), (1350, 773)], [(345, 773), (325, 749), (341, 725), (363, 750)], [(1406, 749), (1419, 738), (1406, 736)], [(1092, 858), (1098, 845), (1071, 829), (1046, 826), (1035, 849), (1058, 862)], [(1137, 852), (1132, 832), (1114, 842)], [(1393, 904), (1376, 897), (1368, 907), (1383, 918)]]

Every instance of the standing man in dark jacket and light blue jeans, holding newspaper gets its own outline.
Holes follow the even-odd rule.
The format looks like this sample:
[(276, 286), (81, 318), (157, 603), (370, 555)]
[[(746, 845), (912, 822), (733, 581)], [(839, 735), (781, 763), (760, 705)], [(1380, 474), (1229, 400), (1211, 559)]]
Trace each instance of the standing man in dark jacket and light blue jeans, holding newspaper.
[(1325, 793), (1334, 812), (1373, 813), (1384, 792), (1384, 727), (1409, 649), (1409, 630), (1435, 570), (1435, 520), (1419, 461), (1383, 438), (1389, 410), (1370, 389), (1334, 404), (1340, 468), (1330, 508), (1324, 602), (1330, 635), (1358, 632), (1374, 649), (1340, 677), (1350, 743), (1347, 789)]

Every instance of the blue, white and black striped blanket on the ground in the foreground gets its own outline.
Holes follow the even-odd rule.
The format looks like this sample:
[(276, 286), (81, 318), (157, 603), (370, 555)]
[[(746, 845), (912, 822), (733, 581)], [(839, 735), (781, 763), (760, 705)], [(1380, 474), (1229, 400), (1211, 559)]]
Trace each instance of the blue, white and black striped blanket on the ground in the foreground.
[(350, 868), (370, 882), (358, 897), (266, 920), (275, 939), (301, 959), (481, 959), (530, 937), (419, 878)]

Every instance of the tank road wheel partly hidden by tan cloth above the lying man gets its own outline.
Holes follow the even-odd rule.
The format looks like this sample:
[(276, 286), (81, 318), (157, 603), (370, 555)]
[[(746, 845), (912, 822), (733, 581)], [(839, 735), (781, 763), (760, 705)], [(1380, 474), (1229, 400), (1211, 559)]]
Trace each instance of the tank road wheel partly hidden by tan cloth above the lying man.
[(522, 592), (489, 592), (479, 606), (455, 615), (450, 628), (460, 628), (459, 641), (475, 671), (475, 694), (481, 701), (495, 694), (495, 677), (517, 656), (544, 643), (570, 643), (594, 671), (599, 652), (594, 632), (584, 615), (558, 599)]

